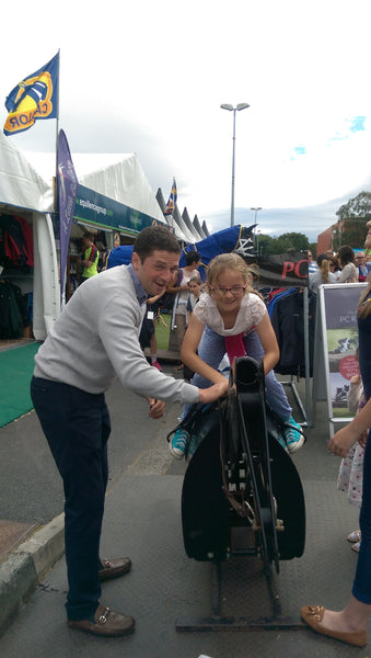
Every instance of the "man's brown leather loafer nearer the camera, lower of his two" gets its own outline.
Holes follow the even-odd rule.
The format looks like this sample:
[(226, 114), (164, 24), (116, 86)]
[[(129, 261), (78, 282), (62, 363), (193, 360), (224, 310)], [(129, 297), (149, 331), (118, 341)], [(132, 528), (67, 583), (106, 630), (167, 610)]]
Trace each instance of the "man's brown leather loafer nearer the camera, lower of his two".
[(90, 622), (89, 620), (80, 620), (79, 622), (68, 620), (67, 625), (69, 628), (85, 631), (85, 633), (93, 633), (93, 635), (117, 637), (118, 635), (132, 633), (136, 622), (132, 616), (119, 614), (111, 610), (111, 608), (100, 604), (95, 611), (94, 622)]

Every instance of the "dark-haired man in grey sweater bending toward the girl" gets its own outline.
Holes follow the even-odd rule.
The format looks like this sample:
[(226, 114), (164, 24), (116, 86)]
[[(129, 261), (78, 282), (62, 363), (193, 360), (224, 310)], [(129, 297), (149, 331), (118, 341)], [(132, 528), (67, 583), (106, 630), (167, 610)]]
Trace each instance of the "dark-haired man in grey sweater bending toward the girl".
[(165, 401), (207, 404), (227, 387), (200, 390), (151, 367), (139, 344), (148, 295), (165, 292), (179, 260), (167, 228), (151, 226), (137, 237), (130, 265), (119, 265), (80, 286), (39, 348), (32, 399), (65, 486), (68, 625), (95, 635), (126, 635), (132, 616), (100, 604), (100, 579), (121, 576), (129, 558), (102, 561), (100, 538), (108, 478), (109, 415), (104, 399), (117, 375), (148, 397), (150, 418)]

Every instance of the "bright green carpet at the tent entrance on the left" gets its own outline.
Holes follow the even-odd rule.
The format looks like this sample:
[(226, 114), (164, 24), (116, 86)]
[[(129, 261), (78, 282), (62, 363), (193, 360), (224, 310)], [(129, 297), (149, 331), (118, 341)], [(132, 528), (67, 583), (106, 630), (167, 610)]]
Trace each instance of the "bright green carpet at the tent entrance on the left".
[(33, 409), (30, 382), (40, 343), (0, 352), (0, 428)]

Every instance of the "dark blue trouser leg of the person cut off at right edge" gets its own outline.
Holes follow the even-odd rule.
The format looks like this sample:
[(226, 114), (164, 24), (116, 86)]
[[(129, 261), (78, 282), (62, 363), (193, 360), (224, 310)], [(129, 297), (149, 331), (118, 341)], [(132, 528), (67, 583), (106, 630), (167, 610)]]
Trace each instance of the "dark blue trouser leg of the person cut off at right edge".
[[(370, 463), (370, 466), (369, 466)], [(359, 515), (361, 545), (358, 554), (352, 595), (361, 603), (371, 603), (371, 430), (363, 457), (362, 506)]]

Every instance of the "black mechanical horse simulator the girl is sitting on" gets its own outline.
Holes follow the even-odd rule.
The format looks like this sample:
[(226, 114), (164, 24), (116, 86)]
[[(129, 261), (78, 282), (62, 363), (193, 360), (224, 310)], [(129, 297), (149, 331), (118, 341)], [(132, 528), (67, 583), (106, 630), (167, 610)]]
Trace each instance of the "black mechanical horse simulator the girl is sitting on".
[[(231, 384), (229, 397), (218, 406), (190, 412), (190, 422), (189, 416), (184, 419), (202, 440), (185, 472), (183, 538), (189, 558), (211, 563), (211, 612), (177, 620), (176, 629), (302, 627), (282, 614), (276, 585), (280, 560), (304, 552), (302, 484), (277, 440), (279, 419), (265, 400), (263, 365), (248, 356), (236, 359)], [(230, 565), (234, 580), (227, 600), (237, 599), (239, 590), (242, 598), (232, 615), (222, 611), (222, 571), (228, 575)]]

